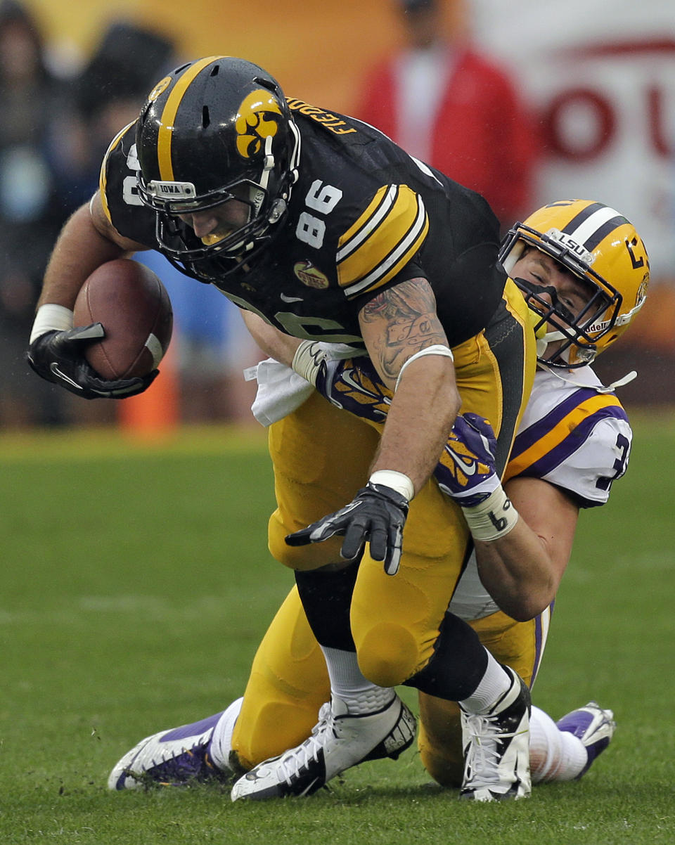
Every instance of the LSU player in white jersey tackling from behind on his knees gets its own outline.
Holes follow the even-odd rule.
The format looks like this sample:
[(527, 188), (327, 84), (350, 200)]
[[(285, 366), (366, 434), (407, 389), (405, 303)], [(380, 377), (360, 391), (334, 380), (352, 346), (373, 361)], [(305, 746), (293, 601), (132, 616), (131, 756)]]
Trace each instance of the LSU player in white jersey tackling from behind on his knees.
[[(471, 414), (458, 417), (435, 476), (462, 506), (474, 541), (449, 613), (469, 621), (493, 656), (531, 685), (579, 509), (604, 504), (628, 463), (631, 430), (616, 385), (604, 387), (588, 363), (640, 309), (649, 264), (625, 218), (583, 200), (549, 204), (514, 226), (501, 258), (536, 319), (539, 368), (531, 398), (504, 484), (493, 469), (491, 428)], [(288, 379), (280, 388), (279, 365), (270, 363), (267, 376), (259, 368), (259, 418), (287, 411), (289, 402), (306, 400), (316, 385), (335, 405), (382, 424), (391, 394), (365, 358), (340, 359), (309, 341), (279, 343), (277, 357), (292, 361), (311, 384)], [(510, 512), (504, 525), (495, 524), (495, 501), (501, 513)], [(232, 799), (312, 793), (362, 760), (400, 753), (363, 739), (372, 718), (367, 706), (362, 731), (353, 717), (340, 722), (325, 706), (313, 727), (329, 695), (364, 702), (369, 690), (378, 701), (378, 688), (363, 678), (350, 652), (319, 649), (313, 641), (294, 589), (264, 637), (243, 699), (202, 722), (144, 739), (117, 763), (109, 786), (133, 788), (140, 775), (158, 782), (220, 777), (232, 767), (251, 770), (235, 784)], [(558, 724), (536, 707), (532, 713), (535, 782), (581, 777), (612, 738), (612, 711), (595, 702)], [(439, 783), (466, 781), (462, 767), (471, 767), (481, 733), (477, 720), (454, 702), (420, 693), (422, 762)], [(275, 759), (265, 759), (270, 757)], [(474, 784), (481, 799), (498, 797), (491, 785)]]

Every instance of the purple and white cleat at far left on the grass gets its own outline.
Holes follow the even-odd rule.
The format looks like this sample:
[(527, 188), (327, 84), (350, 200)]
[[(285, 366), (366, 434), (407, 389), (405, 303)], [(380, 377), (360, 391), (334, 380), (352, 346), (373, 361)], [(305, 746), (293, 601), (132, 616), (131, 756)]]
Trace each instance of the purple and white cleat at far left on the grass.
[(185, 786), (190, 782), (226, 780), (231, 771), (223, 771), (215, 765), (211, 741), (220, 719), (228, 718), (229, 711), (230, 708), (200, 722), (142, 739), (112, 769), (108, 788), (138, 789), (153, 784)]

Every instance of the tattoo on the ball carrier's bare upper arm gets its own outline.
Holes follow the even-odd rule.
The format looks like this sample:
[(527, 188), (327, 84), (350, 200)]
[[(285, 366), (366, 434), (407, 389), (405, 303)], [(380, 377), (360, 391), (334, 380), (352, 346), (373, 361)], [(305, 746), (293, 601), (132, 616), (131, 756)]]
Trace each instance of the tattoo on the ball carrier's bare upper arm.
[(378, 293), (362, 308), (361, 320), (370, 326), (367, 335), (373, 363), (389, 379), (396, 379), (411, 355), (448, 343), (426, 279), (404, 281)]

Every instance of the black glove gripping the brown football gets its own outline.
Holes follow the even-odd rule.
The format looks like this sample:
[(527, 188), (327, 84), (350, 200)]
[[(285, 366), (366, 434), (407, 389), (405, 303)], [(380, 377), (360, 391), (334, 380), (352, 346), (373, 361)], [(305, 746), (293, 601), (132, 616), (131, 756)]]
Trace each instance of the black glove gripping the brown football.
[(105, 337), (101, 323), (79, 326), (68, 331), (47, 331), (36, 337), (26, 360), (39, 376), (84, 399), (126, 399), (142, 393), (155, 380), (159, 370), (135, 379), (101, 379), (84, 358), (84, 347)]

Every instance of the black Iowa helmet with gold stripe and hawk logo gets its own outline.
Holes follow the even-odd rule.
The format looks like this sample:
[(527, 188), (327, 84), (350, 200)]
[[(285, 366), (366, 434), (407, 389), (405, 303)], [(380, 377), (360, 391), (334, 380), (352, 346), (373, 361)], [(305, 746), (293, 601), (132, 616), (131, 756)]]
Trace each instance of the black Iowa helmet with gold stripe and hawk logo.
[[(297, 181), (300, 135), (279, 84), (239, 58), (183, 64), (150, 91), (136, 128), (139, 194), (157, 217), (158, 248), (179, 270), (216, 281), (268, 243)], [(196, 237), (177, 215), (231, 199), (248, 220)]]

